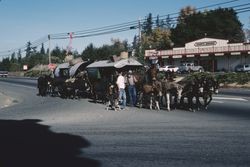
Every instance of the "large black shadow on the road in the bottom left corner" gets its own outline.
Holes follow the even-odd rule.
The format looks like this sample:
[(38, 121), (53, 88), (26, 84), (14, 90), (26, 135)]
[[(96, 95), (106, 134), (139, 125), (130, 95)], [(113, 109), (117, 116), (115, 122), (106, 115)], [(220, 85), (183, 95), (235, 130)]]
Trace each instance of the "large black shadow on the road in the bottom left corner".
[(97, 167), (100, 163), (79, 157), (90, 143), (74, 135), (54, 133), (40, 120), (0, 120), (1, 167)]

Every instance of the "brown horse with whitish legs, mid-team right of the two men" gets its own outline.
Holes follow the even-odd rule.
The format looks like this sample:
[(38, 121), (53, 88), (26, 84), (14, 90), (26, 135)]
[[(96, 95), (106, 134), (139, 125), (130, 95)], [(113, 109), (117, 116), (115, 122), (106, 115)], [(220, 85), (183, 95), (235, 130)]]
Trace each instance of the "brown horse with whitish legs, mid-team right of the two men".
[(181, 99), (183, 87), (173, 81), (168, 81), (167, 79), (162, 80), (162, 93), (165, 98), (167, 110), (170, 111), (170, 105), (172, 103), (172, 97), (174, 97), (173, 107), (176, 109), (178, 102)]

